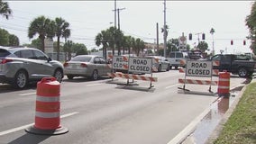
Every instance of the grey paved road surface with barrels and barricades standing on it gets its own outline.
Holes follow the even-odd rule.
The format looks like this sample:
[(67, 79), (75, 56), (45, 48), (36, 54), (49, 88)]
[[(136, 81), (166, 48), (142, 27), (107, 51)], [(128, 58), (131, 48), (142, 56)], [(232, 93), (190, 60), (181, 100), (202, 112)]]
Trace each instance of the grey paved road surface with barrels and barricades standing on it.
[[(33, 125), (36, 86), (14, 90), (0, 85), (0, 143), (72, 143), (72, 144), (167, 144), (195, 122), (215, 101), (208, 85), (186, 85), (198, 92), (178, 91), (178, 70), (153, 73), (158, 82), (102, 78), (90, 81), (64, 78), (60, 84), (60, 124), (69, 132), (57, 136), (27, 133)], [(218, 77), (213, 76), (213, 80)], [(231, 78), (231, 87), (244, 79)], [(217, 86), (212, 85), (216, 92)]]

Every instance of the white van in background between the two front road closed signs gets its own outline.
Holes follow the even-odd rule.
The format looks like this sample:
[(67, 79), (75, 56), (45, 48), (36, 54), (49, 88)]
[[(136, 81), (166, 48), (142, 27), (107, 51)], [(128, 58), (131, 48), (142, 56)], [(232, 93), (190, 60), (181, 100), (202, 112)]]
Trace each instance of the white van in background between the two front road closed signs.
[(167, 59), (169, 60), (169, 69), (171, 69), (171, 67), (175, 67), (175, 69), (178, 69), (178, 67), (185, 67), (184, 65), (180, 64), (180, 59), (186, 58), (187, 52), (170, 51), (169, 56), (167, 56)]

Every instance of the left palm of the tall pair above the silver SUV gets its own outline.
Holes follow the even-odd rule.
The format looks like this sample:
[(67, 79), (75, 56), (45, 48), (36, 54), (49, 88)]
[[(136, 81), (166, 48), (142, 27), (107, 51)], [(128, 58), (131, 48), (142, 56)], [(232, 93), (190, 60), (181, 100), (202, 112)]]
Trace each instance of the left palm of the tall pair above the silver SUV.
[(41, 40), (41, 50), (44, 52), (44, 40), (45, 38), (54, 37), (55, 33), (55, 23), (50, 21), (49, 18), (45, 18), (44, 16), (40, 16), (30, 23), (28, 37), (32, 39), (36, 34), (39, 35), (39, 39)]

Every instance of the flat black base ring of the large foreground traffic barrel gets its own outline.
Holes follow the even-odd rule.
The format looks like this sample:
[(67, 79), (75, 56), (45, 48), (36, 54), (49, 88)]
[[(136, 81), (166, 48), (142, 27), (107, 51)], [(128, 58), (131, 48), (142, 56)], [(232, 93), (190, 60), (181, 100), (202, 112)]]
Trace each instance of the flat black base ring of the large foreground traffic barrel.
[(55, 130), (41, 130), (37, 129), (34, 126), (31, 126), (25, 129), (28, 133), (38, 134), (38, 135), (60, 135), (69, 132), (69, 129), (65, 127), (60, 127), (59, 129)]

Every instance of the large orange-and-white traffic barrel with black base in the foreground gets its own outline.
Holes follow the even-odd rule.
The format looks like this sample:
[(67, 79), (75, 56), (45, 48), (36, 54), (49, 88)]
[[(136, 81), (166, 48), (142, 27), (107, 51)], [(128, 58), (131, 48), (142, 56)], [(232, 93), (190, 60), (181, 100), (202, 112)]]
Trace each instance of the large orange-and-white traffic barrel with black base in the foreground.
[(37, 83), (35, 103), (35, 122), (27, 132), (34, 134), (56, 135), (67, 133), (67, 128), (60, 126), (59, 118), (59, 82), (55, 77), (44, 77)]

